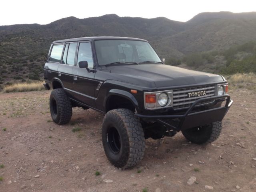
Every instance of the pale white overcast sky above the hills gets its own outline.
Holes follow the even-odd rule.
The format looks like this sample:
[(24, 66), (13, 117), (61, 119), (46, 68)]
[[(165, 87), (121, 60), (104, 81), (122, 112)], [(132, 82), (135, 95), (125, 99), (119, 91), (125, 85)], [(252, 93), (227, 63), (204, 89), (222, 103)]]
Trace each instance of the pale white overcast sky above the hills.
[(252, 12), (255, 0), (3, 0), (0, 26), (48, 24), (61, 18), (120, 17), (156, 18), (186, 22), (201, 12)]

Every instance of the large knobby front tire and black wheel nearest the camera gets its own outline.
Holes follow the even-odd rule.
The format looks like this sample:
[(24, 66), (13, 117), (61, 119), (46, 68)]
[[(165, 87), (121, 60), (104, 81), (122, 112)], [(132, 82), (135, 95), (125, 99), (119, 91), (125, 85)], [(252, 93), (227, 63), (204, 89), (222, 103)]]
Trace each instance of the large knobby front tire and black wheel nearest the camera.
[(107, 112), (102, 123), (102, 144), (108, 160), (118, 168), (133, 167), (142, 160), (144, 132), (132, 111), (114, 109)]

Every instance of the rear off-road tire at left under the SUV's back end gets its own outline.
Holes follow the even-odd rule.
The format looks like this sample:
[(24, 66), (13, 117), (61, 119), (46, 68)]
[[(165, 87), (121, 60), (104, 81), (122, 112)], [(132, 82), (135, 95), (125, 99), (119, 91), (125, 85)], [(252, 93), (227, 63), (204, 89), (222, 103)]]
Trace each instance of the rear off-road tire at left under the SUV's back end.
[(50, 112), (57, 124), (66, 124), (72, 116), (72, 104), (64, 89), (54, 89), (50, 94)]

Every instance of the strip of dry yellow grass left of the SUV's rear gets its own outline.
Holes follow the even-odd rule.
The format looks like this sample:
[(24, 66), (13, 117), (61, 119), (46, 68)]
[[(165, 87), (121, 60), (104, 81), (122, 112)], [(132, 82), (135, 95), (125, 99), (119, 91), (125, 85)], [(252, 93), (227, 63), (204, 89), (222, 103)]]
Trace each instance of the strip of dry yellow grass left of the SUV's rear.
[(18, 83), (10, 86), (6, 86), (3, 92), (26, 92), (26, 91), (40, 91), (45, 90), (43, 82), (33, 82), (33, 83)]

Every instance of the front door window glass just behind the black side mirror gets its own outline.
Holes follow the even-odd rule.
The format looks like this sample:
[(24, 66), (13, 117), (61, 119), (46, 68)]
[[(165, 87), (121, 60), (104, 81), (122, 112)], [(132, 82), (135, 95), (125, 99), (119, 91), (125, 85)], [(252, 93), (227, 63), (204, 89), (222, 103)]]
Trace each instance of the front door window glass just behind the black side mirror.
[(79, 44), (77, 64), (80, 61), (87, 61), (88, 67), (93, 68), (92, 48), (91, 48), (90, 43), (81, 42)]

